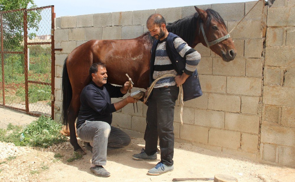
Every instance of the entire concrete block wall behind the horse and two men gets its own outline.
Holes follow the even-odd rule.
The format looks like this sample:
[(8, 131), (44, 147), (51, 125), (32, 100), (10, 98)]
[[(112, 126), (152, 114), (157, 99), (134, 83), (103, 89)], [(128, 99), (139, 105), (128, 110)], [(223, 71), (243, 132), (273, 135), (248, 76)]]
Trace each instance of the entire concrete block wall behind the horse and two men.
[[(209, 48), (201, 44), (195, 47), (202, 56), (197, 69), (204, 94), (184, 103), (183, 125), (180, 123), (180, 106), (177, 102), (174, 134), (178, 142), (189, 142), (209, 150), (268, 163), (272, 163), (273, 159), (276, 161), (276, 156), (281, 153), (278, 160), (281, 162), (278, 163), (290, 165), (282, 161), (288, 161), (288, 156), (283, 154), (290, 153), (294, 147), (292, 140), (283, 142), (283, 138), (294, 131), (290, 129), (294, 127), (295, 117), (294, 107), (292, 108), (294, 105), (290, 100), (294, 95), (294, 55), (291, 55), (294, 54), (294, 27), (288, 20), (285, 21), (287, 25), (282, 27), (280, 19), (272, 15), (280, 26), (267, 28), (267, 6), (264, 6), (263, 1), (254, 6), (256, 2), (198, 6), (201, 9), (211, 8), (219, 12), (228, 32), (250, 9), (252, 10), (231, 32), (237, 49), (235, 60), (224, 62)], [(286, 7), (289, 6), (283, 6)], [(273, 9), (274, 12), (280, 12)], [(56, 18), (55, 48), (63, 50), (55, 51), (55, 105), (61, 107), (61, 71), (65, 58), (75, 47), (91, 39), (138, 37), (147, 31), (145, 23), (153, 13), (160, 13), (167, 22), (173, 22), (194, 12), (194, 6), (185, 6)], [(278, 38), (266, 36), (266, 31), (267, 35), (276, 34)], [(280, 37), (285, 38), (281, 40)], [(268, 42), (275, 46), (268, 45)], [(268, 65), (265, 64), (267, 59)], [(273, 89), (276, 89), (275, 92)], [(119, 99), (112, 99), (112, 102), (116, 101)], [(122, 128), (132, 137), (143, 137), (146, 111), (147, 106), (141, 102), (138, 102), (138, 113), (134, 113), (133, 105), (128, 104), (114, 113), (113, 125)], [(58, 121), (59, 118), (60, 111), (55, 110), (55, 119)], [(262, 128), (262, 125), (265, 127)], [(289, 130), (288, 127), (280, 130), (282, 126), (288, 126)], [(273, 128), (269, 127), (280, 127), (275, 129), (281, 132), (274, 133)], [(265, 136), (262, 137), (262, 133), (266, 133)], [(264, 143), (261, 142), (261, 138)], [(270, 141), (265, 142), (266, 140)], [(264, 150), (266, 152), (263, 152)]]

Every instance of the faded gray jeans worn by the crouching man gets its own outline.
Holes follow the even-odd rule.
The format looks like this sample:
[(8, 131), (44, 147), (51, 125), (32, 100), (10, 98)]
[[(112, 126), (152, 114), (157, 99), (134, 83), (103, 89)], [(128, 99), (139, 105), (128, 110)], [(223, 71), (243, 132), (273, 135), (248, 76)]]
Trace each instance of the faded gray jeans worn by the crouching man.
[(84, 142), (93, 142), (92, 164), (106, 165), (106, 151), (127, 146), (131, 139), (121, 129), (102, 121), (85, 121), (77, 129)]

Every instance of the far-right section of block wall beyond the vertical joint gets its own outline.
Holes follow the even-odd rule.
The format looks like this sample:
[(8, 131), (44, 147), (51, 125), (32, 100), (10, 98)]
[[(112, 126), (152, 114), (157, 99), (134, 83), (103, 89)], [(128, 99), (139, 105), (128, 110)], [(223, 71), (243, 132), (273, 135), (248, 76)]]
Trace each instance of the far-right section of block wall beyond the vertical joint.
[(268, 8), (260, 153), (264, 162), (295, 167), (295, 6)]

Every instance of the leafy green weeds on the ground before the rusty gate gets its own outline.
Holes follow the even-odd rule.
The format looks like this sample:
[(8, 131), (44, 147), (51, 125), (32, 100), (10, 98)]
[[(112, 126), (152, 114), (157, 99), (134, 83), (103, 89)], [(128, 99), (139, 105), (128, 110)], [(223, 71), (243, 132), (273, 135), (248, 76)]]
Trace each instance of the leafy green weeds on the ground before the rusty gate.
[[(9, 124), (7, 129), (0, 129), (0, 141), (12, 142), (17, 146), (48, 147), (66, 141), (66, 137), (60, 133), (61, 128), (62, 125), (50, 117), (41, 116), (24, 128)], [(20, 141), (22, 133), (24, 139)]]

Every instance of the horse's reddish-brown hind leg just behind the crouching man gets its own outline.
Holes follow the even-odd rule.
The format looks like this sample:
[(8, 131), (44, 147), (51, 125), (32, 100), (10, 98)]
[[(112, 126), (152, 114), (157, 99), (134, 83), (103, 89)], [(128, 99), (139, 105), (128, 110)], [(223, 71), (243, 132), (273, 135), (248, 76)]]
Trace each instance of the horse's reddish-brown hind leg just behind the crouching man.
[(80, 94), (76, 94), (73, 92), (73, 97), (71, 104), (68, 108), (68, 123), (70, 129), (70, 143), (74, 147), (74, 151), (79, 153), (80, 155), (86, 155), (86, 152), (80, 147), (76, 137), (76, 130), (75, 130), (75, 121), (79, 113), (80, 108)]

